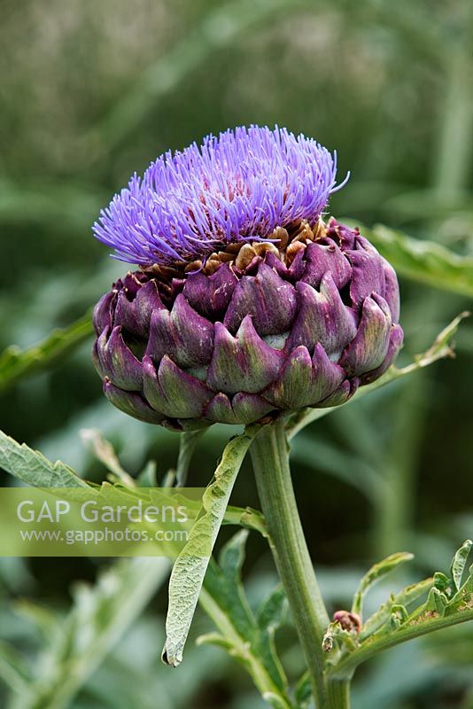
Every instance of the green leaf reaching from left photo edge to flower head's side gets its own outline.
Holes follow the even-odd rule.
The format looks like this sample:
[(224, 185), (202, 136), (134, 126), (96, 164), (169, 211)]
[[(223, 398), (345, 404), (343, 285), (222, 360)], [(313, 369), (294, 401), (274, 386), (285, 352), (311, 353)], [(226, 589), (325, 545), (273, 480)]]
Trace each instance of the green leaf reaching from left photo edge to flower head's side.
[(35, 347), (21, 350), (12, 346), (0, 354), (0, 392), (20, 378), (28, 377), (58, 362), (93, 334), (91, 314), (87, 313), (64, 330), (55, 330)]

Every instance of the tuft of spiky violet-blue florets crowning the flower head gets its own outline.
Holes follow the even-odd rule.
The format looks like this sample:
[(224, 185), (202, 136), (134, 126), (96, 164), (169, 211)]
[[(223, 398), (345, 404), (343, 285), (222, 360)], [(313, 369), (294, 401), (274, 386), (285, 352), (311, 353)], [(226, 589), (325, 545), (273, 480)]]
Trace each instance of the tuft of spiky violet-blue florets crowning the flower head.
[[(236, 128), (167, 152), (115, 195), (95, 236), (115, 258), (194, 261), (232, 242), (268, 239), (278, 226), (314, 222), (336, 191), (337, 155), (286, 129)], [(341, 186), (341, 185), (340, 185)]]

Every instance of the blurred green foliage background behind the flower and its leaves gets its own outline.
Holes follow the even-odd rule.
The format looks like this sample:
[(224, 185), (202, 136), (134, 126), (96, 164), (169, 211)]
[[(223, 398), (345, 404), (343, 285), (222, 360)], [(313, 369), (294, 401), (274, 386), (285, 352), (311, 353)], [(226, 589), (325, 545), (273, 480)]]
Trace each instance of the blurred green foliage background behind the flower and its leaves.
[[(277, 123), (336, 149), (339, 178), (352, 173), (330, 203), (338, 218), (384, 222), (473, 253), (470, 0), (0, 0), (0, 76), (2, 349), (71, 323), (124, 274), (90, 226), (134, 171), (238, 124)], [(405, 278), (401, 291), (407, 361), (469, 303)], [(129, 471), (151, 458), (162, 477), (177, 436), (112, 409), (89, 347), (2, 393), (0, 428), (99, 480), (103, 466), (79, 434), (99, 427)], [(454, 362), (340, 409), (294, 442), (301, 514), (330, 611), (347, 603), (376, 558), (412, 550), (409, 573), (420, 578), (473, 534), (468, 322), (456, 351)], [(229, 432), (215, 426), (199, 442), (192, 484), (211, 478)], [(249, 466), (234, 502), (258, 506)], [(87, 560), (0, 560), (0, 637), (31, 657), (58, 645), (42, 614), (19, 598), (62, 617), (74, 581), (96, 574)], [(146, 612), (72, 702), (32, 699), (19, 709), (262, 709), (242, 669), (222, 651), (194, 646), (210, 627), (201, 613), (183, 666), (159, 665), (166, 574), (163, 563)], [(245, 574), (255, 598), (275, 580), (256, 536)], [(291, 627), (280, 640), (297, 674)], [(411, 643), (363, 668), (354, 707), (471, 708), (472, 663), (468, 625)], [(43, 656), (37, 674), (49, 676), (48, 666)], [(5, 678), (1, 670), (2, 661)], [(7, 695), (4, 684), (0, 705)]]

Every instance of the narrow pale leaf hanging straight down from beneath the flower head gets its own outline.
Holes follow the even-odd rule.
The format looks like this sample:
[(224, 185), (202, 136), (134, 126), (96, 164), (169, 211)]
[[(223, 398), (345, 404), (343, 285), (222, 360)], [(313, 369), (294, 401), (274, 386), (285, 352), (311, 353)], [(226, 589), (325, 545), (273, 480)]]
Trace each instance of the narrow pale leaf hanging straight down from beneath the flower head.
[(189, 541), (174, 564), (169, 581), (167, 638), (162, 653), (163, 662), (167, 665), (178, 666), (182, 662), (184, 645), (209, 564), (209, 558), (202, 555), (202, 549), (207, 540), (213, 549), (236, 476), (255, 434), (256, 429), (254, 432), (247, 430), (243, 435), (230, 440), (223, 451), (213, 481), (205, 490), (200, 516), (190, 530)]

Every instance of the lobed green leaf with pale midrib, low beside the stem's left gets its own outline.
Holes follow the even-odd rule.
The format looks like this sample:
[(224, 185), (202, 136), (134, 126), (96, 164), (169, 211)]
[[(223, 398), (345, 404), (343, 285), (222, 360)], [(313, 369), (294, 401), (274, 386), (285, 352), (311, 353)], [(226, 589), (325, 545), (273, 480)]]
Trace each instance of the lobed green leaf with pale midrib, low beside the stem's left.
[(212, 561), (205, 575), (200, 603), (213, 619), (218, 634), (199, 643), (213, 643), (236, 658), (251, 674), (261, 696), (275, 709), (291, 709), (287, 679), (275, 651), (275, 630), (286, 607), (281, 587), (253, 614), (241, 581), (246, 530), (238, 532), (222, 549), (219, 565)]

